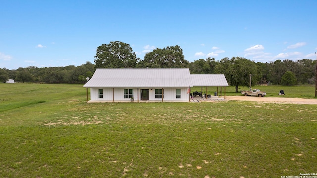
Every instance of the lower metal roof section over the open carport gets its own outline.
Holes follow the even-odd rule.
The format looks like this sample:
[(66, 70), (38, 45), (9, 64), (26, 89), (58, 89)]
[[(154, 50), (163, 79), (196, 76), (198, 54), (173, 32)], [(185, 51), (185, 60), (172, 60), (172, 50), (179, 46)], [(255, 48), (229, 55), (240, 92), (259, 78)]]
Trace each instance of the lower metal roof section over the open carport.
[(227, 87), (228, 82), (223, 74), (197, 74), (190, 75), (191, 86), (218, 86)]

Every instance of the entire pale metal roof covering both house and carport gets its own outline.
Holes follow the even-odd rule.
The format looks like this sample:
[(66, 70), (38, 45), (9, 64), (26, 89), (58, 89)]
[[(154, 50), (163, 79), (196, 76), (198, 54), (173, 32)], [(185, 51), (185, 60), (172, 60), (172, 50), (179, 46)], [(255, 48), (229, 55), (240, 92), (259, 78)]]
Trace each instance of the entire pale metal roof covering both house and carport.
[(224, 75), (191, 75), (188, 68), (96, 69), (92, 87), (228, 86)]

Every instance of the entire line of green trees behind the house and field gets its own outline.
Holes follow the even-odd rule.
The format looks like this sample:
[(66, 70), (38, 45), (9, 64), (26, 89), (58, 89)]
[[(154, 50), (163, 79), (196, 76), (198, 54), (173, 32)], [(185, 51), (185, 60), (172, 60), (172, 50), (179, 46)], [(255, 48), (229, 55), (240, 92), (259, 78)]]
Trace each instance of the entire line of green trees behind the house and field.
[(17, 70), (0, 69), (0, 81), (15, 79), (17, 82), (85, 83), (96, 68), (189, 68), (191, 74), (224, 74), (230, 86), (249, 87), (252, 84), (314, 84), (316, 60), (276, 60), (254, 62), (243, 57), (215, 60), (198, 59), (189, 62), (184, 59), (180, 46), (156, 48), (145, 54), (144, 59), (136, 57), (129, 44), (113, 41), (97, 47), (95, 64), (86, 62), (80, 66), (38, 68), (34, 66)]

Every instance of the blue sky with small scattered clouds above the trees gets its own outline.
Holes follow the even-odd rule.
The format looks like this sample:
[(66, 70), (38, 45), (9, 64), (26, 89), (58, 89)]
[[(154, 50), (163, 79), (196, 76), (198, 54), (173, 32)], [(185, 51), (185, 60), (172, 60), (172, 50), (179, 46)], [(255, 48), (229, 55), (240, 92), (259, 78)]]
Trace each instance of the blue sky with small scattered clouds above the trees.
[(94, 63), (111, 41), (140, 59), (316, 60), (317, 0), (0, 0), (0, 68)]

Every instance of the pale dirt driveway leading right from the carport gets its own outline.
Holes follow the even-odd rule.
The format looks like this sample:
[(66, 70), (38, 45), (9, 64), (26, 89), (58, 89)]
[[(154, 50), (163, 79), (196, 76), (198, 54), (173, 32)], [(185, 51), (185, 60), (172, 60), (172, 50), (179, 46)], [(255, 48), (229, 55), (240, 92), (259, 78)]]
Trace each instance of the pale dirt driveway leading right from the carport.
[(317, 99), (284, 98), (284, 97), (255, 97), (255, 96), (226, 96), (226, 100), (256, 101), (262, 103), (289, 103), (317, 105)]

